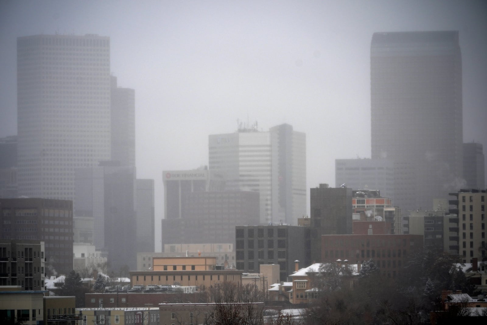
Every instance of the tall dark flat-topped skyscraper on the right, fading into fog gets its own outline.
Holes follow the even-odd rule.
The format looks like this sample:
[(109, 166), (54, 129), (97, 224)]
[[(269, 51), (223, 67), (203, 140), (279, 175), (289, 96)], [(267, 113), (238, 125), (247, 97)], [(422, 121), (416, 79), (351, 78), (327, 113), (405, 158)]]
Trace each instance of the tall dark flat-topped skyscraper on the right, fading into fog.
[(456, 31), (375, 33), (372, 158), (394, 161), (394, 204), (429, 209), (462, 179), (462, 62)]

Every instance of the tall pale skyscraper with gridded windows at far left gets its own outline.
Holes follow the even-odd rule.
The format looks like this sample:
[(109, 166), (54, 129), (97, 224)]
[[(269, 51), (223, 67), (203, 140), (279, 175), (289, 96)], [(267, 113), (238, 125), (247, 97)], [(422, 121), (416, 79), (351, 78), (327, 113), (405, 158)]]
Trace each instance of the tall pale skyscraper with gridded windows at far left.
[(19, 195), (73, 200), (75, 169), (110, 159), (110, 38), (17, 39)]

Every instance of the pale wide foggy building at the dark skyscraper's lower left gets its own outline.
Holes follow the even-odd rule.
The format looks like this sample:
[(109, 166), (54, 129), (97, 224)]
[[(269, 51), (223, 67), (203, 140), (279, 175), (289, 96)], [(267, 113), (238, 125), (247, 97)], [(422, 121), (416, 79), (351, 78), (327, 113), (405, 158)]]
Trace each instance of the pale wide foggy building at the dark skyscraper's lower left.
[(335, 159), (335, 186), (379, 190), (394, 200), (394, 162), (391, 159)]

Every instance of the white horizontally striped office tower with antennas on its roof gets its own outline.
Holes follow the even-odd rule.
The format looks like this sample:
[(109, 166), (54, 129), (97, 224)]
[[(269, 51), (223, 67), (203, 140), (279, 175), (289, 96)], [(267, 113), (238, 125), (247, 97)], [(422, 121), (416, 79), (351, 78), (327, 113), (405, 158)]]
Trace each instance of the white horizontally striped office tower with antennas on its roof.
[(282, 124), (257, 125), (209, 135), (209, 169), (225, 178), (226, 191), (260, 194), (261, 223), (298, 224), (306, 214), (306, 135)]

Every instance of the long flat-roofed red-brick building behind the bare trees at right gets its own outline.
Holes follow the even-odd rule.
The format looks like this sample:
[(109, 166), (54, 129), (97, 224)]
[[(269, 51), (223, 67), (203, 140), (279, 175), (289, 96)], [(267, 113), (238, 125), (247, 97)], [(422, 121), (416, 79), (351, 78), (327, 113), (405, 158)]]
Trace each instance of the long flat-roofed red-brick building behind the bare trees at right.
[(322, 235), (321, 261), (356, 264), (373, 259), (384, 276), (395, 277), (408, 256), (422, 247), (422, 235)]

